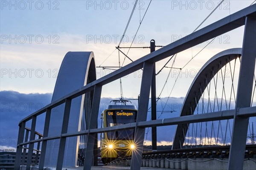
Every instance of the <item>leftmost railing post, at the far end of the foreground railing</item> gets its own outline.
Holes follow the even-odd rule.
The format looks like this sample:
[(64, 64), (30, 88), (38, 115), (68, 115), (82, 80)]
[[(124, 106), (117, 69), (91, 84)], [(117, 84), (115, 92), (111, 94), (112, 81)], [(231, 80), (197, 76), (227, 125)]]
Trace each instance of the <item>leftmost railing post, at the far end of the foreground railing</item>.
[(25, 125), (26, 125), (26, 122), (21, 122), (21, 125), (19, 125), (20, 127), (19, 127), (15, 166), (14, 166), (15, 170), (20, 169), (20, 161), (21, 161), (22, 147), (23, 147), (22, 145), (20, 145), (20, 143), (22, 143), (24, 139)]

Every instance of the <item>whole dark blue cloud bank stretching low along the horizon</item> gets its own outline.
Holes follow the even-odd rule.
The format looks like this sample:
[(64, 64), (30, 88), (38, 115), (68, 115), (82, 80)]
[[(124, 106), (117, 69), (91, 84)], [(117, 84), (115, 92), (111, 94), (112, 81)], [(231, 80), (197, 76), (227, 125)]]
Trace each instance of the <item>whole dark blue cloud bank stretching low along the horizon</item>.
[[(0, 146), (1, 148), (9, 148), (9, 147), (16, 147), (17, 145), (17, 135), (18, 135), (18, 122), (29, 116), (31, 113), (41, 109), (42, 107), (46, 106), (50, 103), (52, 94), (22, 94), (17, 91), (0, 91)], [(98, 116), (98, 126), (101, 126), (100, 113), (108, 108), (108, 105), (111, 105), (111, 101), (118, 98), (111, 98), (111, 97), (103, 97), (100, 101), (99, 106), (99, 116)], [(157, 119), (165, 119), (165, 118), (172, 118), (177, 117), (180, 115), (180, 111), (182, 109), (184, 97), (167, 97), (161, 98), (157, 102)], [(131, 100), (132, 105), (136, 105), (137, 107), (137, 100)], [(233, 102), (231, 103), (232, 107), (234, 107)], [(149, 100), (149, 108), (150, 100)], [(204, 106), (207, 107), (207, 106)], [(201, 112), (199, 112), (201, 113)], [(39, 133), (43, 133), (43, 126), (44, 126), (44, 116), (42, 114), (37, 117), (36, 123), (36, 131)], [(151, 112), (149, 109), (147, 120), (151, 120)], [(250, 119), (251, 123), (255, 124), (255, 117)], [(193, 137), (195, 138), (195, 132), (197, 132), (197, 143), (200, 143), (200, 135), (201, 140), (208, 142), (208, 139), (212, 139), (215, 141), (218, 139), (219, 143), (225, 140), (226, 144), (230, 143), (230, 134), (232, 133), (232, 124), (233, 120), (229, 121), (227, 127), (227, 136), (221, 135), (221, 130), (218, 132), (218, 126), (222, 128), (223, 134), (225, 133), (227, 120), (222, 120), (219, 124), (219, 121), (209, 122), (207, 125), (205, 122), (194, 124), (194, 129), (192, 125), (190, 126), (190, 136), (192, 134), (192, 130), (194, 132)], [(196, 130), (196, 125), (198, 128)], [(215, 128), (215, 135), (214, 133), (211, 134), (211, 127), (212, 125)], [(26, 127), (31, 126), (31, 120), (26, 123)], [(168, 145), (172, 144), (173, 138), (175, 136), (175, 129), (177, 125), (170, 125), (170, 126), (162, 126), (157, 127), (157, 144), (158, 145)], [(206, 133), (207, 127), (207, 133)], [(200, 133), (200, 128), (204, 131)], [(219, 133), (219, 136), (217, 136)], [(205, 140), (206, 139), (206, 140)], [(147, 141), (147, 145), (151, 145), (151, 128), (145, 129), (145, 140)], [(199, 140), (199, 141), (198, 141)], [(195, 139), (189, 139), (186, 136), (186, 142), (189, 141), (195, 143)], [(213, 142), (212, 142), (213, 143)], [(250, 143), (250, 139), (247, 140), (247, 143)]]

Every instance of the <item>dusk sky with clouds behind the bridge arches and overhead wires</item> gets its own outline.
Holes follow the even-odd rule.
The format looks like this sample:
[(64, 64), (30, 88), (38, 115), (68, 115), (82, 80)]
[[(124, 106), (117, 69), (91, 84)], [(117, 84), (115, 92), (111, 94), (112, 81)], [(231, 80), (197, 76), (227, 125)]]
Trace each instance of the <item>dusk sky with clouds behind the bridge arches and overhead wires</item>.
[[(18, 122), (51, 102), (58, 70), (68, 51), (93, 51), (96, 66), (119, 65), (115, 47), (125, 30), (134, 2), (0, 0), (0, 149), (15, 147)], [(191, 34), (220, 2), (221, 0), (152, 0), (148, 7), (150, 0), (140, 0), (120, 47), (131, 45), (140, 23), (132, 47), (148, 47), (151, 39), (156, 41), (156, 45), (168, 45)], [(254, 0), (224, 0), (198, 29), (250, 6), (253, 2)], [(163, 85), (170, 69), (164, 68), (157, 75), (157, 96), (163, 88), (160, 97), (163, 102), (168, 101), (165, 111), (175, 111), (163, 113), (160, 119), (179, 116), (184, 97), (200, 68), (223, 50), (241, 48), (243, 31), (244, 26), (218, 36), (207, 48), (204, 46), (210, 40), (177, 54), (173, 67), (182, 68), (204, 48), (180, 74), (178, 70), (171, 71), (165, 88)], [(133, 60), (150, 52), (148, 48), (133, 48), (129, 52), (128, 49), (121, 50), (128, 53)], [(121, 65), (131, 62), (124, 58), (124, 55), (120, 55)], [(157, 72), (168, 59), (157, 62)], [(172, 63), (173, 60), (167, 66), (171, 67)], [(112, 71), (97, 68), (97, 79)], [(140, 93), (141, 74), (142, 71), (136, 71), (122, 78), (125, 98), (137, 98)], [(119, 80), (103, 86), (100, 111), (105, 109), (106, 103), (119, 97)], [(137, 102), (134, 104), (137, 105)], [(157, 103), (158, 111), (162, 111), (162, 105), (161, 102)], [(157, 113), (158, 116), (160, 112)], [(252, 121), (256, 127), (255, 117), (250, 119), (250, 123)], [(37, 129), (43, 133), (40, 122), (44, 121), (39, 119)], [(171, 139), (167, 138), (166, 130), (169, 136), (173, 136), (175, 126), (158, 129), (159, 144), (170, 144)]]

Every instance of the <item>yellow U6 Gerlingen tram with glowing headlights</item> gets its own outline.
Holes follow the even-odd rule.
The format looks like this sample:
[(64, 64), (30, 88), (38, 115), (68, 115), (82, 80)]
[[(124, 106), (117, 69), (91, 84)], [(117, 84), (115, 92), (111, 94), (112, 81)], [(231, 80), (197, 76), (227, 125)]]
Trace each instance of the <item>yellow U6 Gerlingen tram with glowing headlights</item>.
[[(136, 122), (137, 108), (135, 105), (126, 105), (128, 100), (112, 100), (114, 105), (101, 113), (101, 127), (112, 127)], [(100, 153), (102, 163), (106, 164), (116, 158), (131, 156), (134, 146), (134, 129), (117, 130), (101, 133)]]

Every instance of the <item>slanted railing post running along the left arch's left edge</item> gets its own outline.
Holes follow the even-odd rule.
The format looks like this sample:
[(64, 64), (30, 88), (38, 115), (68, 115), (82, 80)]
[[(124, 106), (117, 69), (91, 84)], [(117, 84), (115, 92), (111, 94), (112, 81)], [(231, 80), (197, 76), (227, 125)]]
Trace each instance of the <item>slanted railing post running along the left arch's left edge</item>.
[(39, 170), (44, 169), (44, 159), (45, 159), (45, 152), (46, 152), (46, 146), (47, 146), (47, 140), (44, 140), (44, 138), (48, 137), (51, 111), (52, 111), (52, 109), (50, 109), (50, 108), (46, 109), (46, 115), (45, 115), (45, 121), (44, 121), (44, 134), (43, 134), (41, 154), (40, 154), (40, 159), (39, 159)]

